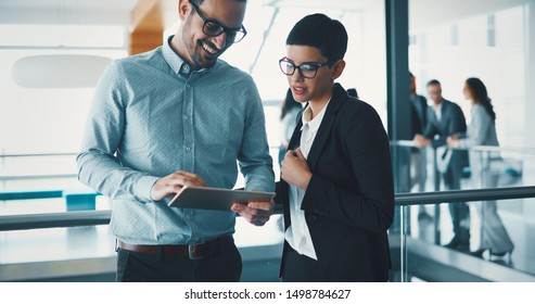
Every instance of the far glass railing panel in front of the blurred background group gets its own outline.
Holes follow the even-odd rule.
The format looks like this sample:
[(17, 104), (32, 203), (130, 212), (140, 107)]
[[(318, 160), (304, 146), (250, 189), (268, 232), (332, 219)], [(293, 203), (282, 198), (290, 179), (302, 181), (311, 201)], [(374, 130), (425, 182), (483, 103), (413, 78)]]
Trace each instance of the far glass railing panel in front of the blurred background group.
[(533, 148), (417, 148), (399, 140), (391, 151), (396, 193), (535, 185)]

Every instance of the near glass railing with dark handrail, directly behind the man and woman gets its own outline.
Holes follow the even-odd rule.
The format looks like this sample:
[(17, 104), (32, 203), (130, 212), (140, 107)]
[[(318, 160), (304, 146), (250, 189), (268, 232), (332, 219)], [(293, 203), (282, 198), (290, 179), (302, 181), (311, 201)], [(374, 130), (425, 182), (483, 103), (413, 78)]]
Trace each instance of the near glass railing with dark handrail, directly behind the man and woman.
[[(535, 211), (533, 198), (535, 187), (397, 194), (400, 226), (390, 232), (391, 280), (534, 281), (533, 220), (523, 219), (525, 213)], [(493, 201), (497, 202), (496, 214)], [(454, 237), (449, 205), (461, 204), (445, 202), (471, 202), (471, 217), (464, 223), (470, 233), (466, 246), (445, 246)], [(430, 212), (430, 218), (418, 218), (417, 213), (408, 212), (420, 206)], [(438, 215), (432, 213), (436, 206)], [(496, 215), (510, 238), (512, 252), (509, 246), (500, 248), (502, 252), (494, 249), (480, 254), (477, 249), (489, 238), (481, 231), (495, 229)], [(54, 280), (61, 276), (79, 280), (91, 275), (113, 280), (114, 238), (106, 226), (110, 216), (110, 211), (0, 216), (0, 281)], [(275, 215), (265, 227), (253, 227), (238, 218), (234, 238), (244, 261), (243, 280), (277, 281), (282, 250), (281, 216)], [(48, 273), (36, 274), (31, 270), (36, 263), (54, 266), (49, 265)], [(86, 271), (85, 266), (74, 266), (86, 263), (95, 264), (100, 270)]]

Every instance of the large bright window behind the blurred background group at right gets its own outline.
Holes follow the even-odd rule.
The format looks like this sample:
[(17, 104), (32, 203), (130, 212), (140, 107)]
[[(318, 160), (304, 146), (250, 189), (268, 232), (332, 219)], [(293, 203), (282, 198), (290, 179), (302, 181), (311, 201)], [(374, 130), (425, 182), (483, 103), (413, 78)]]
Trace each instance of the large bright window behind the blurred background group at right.
[[(520, 2), (520, 3), (519, 3)], [(501, 145), (527, 142), (530, 88), (528, 48), (533, 36), (528, 1), (410, 1), (409, 66), (419, 92), (432, 78), (443, 84), (446, 99), (457, 102), (470, 118), (463, 81), (481, 78), (493, 99)], [(440, 16), (437, 11), (441, 11)], [(533, 78), (531, 80), (533, 83)], [(533, 97), (532, 97), (533, 98)]]

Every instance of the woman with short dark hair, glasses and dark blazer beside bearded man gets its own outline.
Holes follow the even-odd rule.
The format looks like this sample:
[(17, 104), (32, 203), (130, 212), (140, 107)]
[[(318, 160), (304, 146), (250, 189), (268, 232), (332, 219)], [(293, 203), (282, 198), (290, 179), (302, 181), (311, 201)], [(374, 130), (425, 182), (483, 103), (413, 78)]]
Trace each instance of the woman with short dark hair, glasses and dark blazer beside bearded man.
[(394, 215), (388, 139), (378, 113), (334, 80), (344, 71), (344, 26), (308, 15), (290, 31), (280, 67), (306, 103), (282, 161), (281, 278), (387, 281)]

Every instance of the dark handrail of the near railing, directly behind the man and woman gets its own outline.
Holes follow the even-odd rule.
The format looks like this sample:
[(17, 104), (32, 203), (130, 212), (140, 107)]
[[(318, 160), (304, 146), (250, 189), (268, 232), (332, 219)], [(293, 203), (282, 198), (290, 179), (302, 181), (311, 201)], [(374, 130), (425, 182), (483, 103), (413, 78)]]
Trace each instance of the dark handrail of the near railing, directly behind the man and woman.
[[(477, 190), (457, 190), (423, 193), (398, 193), (396, 205), (441, 204), (444, 202), (468, 202), (535, 198), (535, 187), (513, 187)], [(277, 211), (280, 213), (280, 208)], [(107, 225), (112, 211), (80, 211), (0, 216), (0, 231), (40, 228), (62, 228)]]

